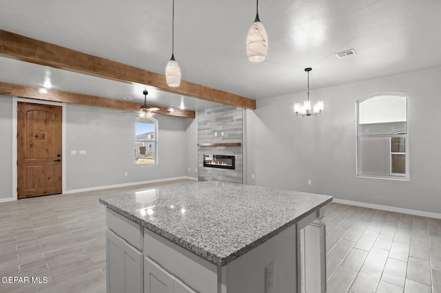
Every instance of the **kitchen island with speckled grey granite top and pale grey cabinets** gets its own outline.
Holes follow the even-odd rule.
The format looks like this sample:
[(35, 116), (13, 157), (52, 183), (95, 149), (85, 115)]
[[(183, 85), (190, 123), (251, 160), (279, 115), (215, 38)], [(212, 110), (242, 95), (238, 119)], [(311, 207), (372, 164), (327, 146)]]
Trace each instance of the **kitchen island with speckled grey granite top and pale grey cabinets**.
[(107, 292), (325, 292), (328, 195), (227, 182), (100, 199)]

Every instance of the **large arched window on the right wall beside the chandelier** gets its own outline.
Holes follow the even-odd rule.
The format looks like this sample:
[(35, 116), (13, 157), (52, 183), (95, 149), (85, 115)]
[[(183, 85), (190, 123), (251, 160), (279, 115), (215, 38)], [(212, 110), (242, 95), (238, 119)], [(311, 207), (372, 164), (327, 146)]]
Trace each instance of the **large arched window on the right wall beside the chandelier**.
[(409, 180), (407, 98), (366, 98), (357, 102), (357, 114), (357, 175)]

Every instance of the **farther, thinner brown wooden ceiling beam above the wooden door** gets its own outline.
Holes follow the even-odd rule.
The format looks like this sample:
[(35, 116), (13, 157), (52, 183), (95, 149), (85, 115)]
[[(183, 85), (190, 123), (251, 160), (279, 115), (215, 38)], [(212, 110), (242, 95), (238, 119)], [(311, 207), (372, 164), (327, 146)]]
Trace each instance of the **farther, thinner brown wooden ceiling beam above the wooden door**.
[[(0, 82), (0, 94), (6, 96), (17, 96), (21, 98), (34, 98), (37, 100), (50, 100), (52, 102), (68, 102), (71, 104), (103, 107), (120, 110), (134, 110), (138, 111), (139, 107), (143, 105), (139, 102), (130, 102), (127, 100), (116, 100), (114, 98), (103, 98), (99, 96), (90, 96), (85, 94), (76, 94), (70, 91), (58, 91), (56, 89), (47, 89), (47, 93), (42, 93), (39, 87), (30, 87), (28, 85), (17, 85), (14, 83)], [(150, 105), (150, 104), (149, 104)], [(152, 107), (158, 107), (158, 111), (154, 111), (156, 114), (194, 118), (194, 111), (174, 109), (169, 111), (170, 108), (150, 105)]]

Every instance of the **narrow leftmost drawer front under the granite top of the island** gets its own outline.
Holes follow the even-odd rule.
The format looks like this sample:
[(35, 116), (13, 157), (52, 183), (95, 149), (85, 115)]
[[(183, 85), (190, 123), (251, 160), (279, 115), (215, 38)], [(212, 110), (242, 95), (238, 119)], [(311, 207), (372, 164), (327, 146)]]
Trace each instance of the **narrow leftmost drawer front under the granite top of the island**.
[(143, 228), (139, 224), (136, 224), (134, 221), (115, 213), (109, 208), (106, 210), (105, 221), (107, 228), (112, 230), (116, 235), (119, 235), (119, 237), (123, 238), (132, 246), (138, 248), (140, 251), (143, 251), (144, 233)]

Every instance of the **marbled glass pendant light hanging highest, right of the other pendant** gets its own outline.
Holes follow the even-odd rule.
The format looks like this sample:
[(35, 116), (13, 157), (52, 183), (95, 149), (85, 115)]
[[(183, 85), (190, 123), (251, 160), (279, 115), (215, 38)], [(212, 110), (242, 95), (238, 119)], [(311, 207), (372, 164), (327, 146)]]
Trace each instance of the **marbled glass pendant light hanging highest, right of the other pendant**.
[(258, 12), (259, 1), (256, 4), (256, 19), (248, 30), (247, 56), (251, 62), (265, 61), (268, 54), (268, 36), (265, 27), (260, 22)]

